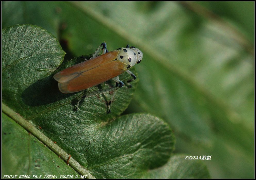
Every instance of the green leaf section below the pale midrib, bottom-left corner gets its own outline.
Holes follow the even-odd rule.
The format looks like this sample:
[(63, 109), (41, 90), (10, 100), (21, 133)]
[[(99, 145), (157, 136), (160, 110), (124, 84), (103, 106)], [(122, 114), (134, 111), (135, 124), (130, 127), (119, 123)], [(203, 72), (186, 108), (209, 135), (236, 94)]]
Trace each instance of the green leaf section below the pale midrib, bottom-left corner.
[[(2, 178), (4, 175), (74, 175), (74, 169), (33, 134), (2, 113)], [(35, 178), (35, 176), (34, 176)]]

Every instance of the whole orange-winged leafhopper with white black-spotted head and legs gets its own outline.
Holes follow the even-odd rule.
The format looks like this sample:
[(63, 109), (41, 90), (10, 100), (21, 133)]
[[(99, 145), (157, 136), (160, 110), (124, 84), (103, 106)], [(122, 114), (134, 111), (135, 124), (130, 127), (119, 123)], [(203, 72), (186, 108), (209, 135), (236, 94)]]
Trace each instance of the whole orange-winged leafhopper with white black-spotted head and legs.
[[(98, 56), (101, 49), (103, 49), (103, 54)], [(142, 58), (143, 53), (135, 47), (129, 48), (127, 45), (126, 48), (108, 52), (106, 43), (102, 43), (91, 59), (85, 59), (86, 61), (64, 69), (53, 77), (58, 81), (58, 86), (62, 93), (82, 91), (110, 79), (116, 81), (118, 87), (122, 87), (124, 84), (119, 80), (118, 76), (126, 71), (136, 79), (136, 76), (128, 69), (136, 63), (140, 63)], [(116, 90), (113, 96), (115, 93)], [(109, 107), (111, 101), (108, 103)]]

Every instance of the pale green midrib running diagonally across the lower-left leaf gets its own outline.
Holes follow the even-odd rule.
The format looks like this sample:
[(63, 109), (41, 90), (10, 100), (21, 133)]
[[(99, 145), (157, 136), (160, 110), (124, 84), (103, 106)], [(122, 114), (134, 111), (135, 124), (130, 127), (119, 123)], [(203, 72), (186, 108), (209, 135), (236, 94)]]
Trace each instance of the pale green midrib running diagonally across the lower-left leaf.
[[(20, 114), (16, 113), (4, 103), (2, 103), (2, 112), (20, 124), (24, 129), (34, 134), (39, 140), (41, 140), (45, 145), (47, 145), (51, 150), (53, 150), (57, 155), (59, 155), (62, 159), (69, 159), (70, 155), (65, 152), (62, 148), (56, 145), (51, 139), (46, 137), (42, 132), (40, 132), (33, 124), (29, 121), (24, 119)], [(81, 175), (85, 175), (86, 178), (93, 178), (95, 177), (91, 175), (82, 165), (80, 165), (75, 159), (72, 157), (69, 159), (69, 165), (75, 169)]]

